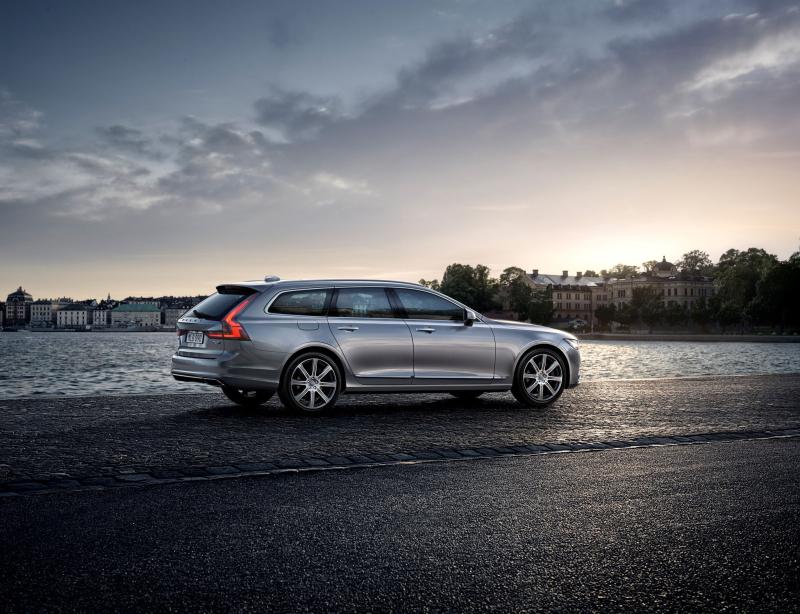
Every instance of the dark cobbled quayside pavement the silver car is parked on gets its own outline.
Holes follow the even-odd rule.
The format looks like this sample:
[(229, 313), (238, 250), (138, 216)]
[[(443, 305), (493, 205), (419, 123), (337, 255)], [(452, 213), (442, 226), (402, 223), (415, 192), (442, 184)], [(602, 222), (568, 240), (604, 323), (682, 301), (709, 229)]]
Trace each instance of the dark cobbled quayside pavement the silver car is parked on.
[(342, 397), (330, 416), (218, 393), (0, 401), (0, 482), (407, 450), (800, 425), (800, 375), (590, 382), (546, 411), (510, 395)]

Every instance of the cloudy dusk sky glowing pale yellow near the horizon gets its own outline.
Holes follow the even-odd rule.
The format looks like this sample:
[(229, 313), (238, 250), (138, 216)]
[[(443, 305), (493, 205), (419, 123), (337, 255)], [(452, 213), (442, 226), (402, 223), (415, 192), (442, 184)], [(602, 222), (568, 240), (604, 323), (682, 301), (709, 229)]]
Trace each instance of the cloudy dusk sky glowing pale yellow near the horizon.
[(0, 293), (800, 242), (800, 3), (0, 0)]

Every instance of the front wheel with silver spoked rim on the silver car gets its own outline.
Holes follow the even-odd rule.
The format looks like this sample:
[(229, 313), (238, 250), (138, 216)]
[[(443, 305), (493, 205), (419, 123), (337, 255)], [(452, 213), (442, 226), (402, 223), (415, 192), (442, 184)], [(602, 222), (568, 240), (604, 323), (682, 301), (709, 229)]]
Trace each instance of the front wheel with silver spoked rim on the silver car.
[(511, 392), (523, 405), (547, 407), (564, 392), (566, 378), (561, 354), (549, 348), (534, 348), (519, 361)]

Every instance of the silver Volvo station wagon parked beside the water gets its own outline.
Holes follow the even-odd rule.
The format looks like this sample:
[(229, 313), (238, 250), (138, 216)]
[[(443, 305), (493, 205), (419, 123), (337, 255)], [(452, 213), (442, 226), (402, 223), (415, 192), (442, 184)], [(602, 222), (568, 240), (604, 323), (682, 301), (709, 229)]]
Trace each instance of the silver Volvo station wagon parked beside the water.
[(493, 320), (418, 284), (376, 280), (224, 284), (178, 320), (175, 379), (255, 406), (278, 393), (304, 413), (340, 394), (510, 390), (530, 407), (580, 381), (578, 340)]

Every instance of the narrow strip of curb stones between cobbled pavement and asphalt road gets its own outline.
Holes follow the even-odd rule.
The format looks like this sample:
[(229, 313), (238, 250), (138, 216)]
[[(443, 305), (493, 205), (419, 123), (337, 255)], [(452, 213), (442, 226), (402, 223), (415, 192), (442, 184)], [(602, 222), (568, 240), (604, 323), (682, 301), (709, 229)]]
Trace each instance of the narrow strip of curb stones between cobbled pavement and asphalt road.
[(25, 495), (44, 495), (65, 492), (96, 492), (161, 484), (183, 482), (206, 482), (242, 477), (301, 474), (343, 469), (368, 469), (413, 465), (421, 463), (446, 463), (453, 461), (543, 456), (569, 454), (572, 452), (602, 452), (627, 448), (658, 448), (664, 446), (686, 446), (707, 443), (732, 443), (763, 439), (789, 439), (800, 437), (800, 428), (771, 431), (729, 431), (703, 433), (700, 435), (673, 435), (658, 437), (636, 437), (610, 441), (569, 443), (515, 444), (509, 446), (417, 450), (398, 453), (374, 453), (369, 455), (328, 456), (326, 458), (289, 458), (263, 462), (236, 463), (209, 467), (186, 467), (134, 472), (130, 469), (113, 475), (75, 478), (61, 473), (43, 480), (17, 480), (0, 483), (0, 500)]

